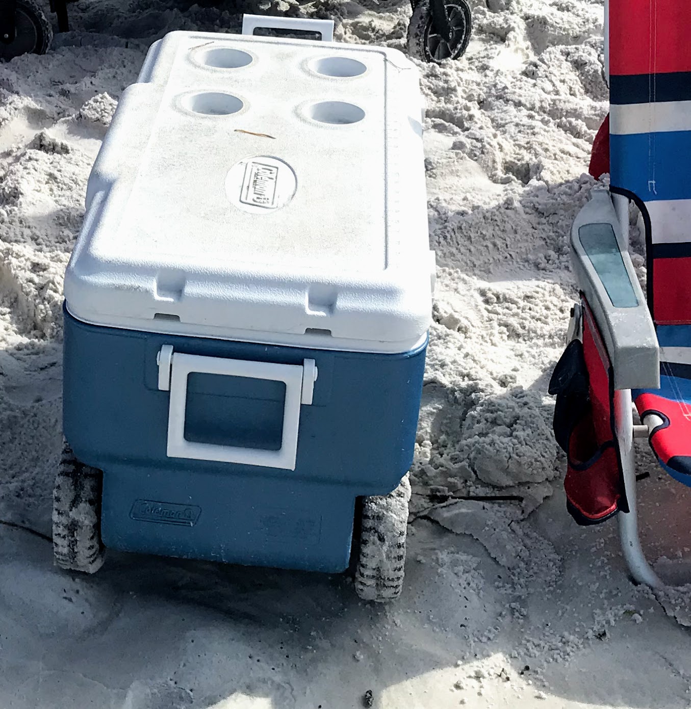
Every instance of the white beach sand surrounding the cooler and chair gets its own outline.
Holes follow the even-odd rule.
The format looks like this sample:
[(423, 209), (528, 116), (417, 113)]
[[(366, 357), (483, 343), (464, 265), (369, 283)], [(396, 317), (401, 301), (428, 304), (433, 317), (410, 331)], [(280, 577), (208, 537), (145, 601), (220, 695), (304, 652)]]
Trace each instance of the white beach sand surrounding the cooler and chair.
[[(44, 533), (62, 272), (99, 141), (151, 41), (239, 29), (231, 4), (127, 5), (70, 5), (55, 50), (0, 65), (0, 518)], [(387, 709), (691, 705), (691, 589), (661, 605), (629, 581), (614, 523), (570, 520), (551, 435), (566, 238), (607, 111), (602, 0), (474, 5), (466, 57), (424, 67), (439, 269), (404, 596), (372, 608), (342, 578), (126, 554), (70, 576), (46, 540), (0, 527), (0, 707), (346, 709), (367, 690)], [(338, 18), (340, 40), (404, 46), (405, 0), (304, 9)], [(646, 548), (691, 580), (689, 496), (639, 454)]]

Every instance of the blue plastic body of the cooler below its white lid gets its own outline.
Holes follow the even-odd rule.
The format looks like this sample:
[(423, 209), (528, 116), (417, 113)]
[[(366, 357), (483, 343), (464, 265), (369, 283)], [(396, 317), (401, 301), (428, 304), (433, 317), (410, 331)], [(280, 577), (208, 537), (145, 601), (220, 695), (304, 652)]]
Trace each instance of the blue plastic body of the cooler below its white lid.
[[(302, 364), (315, 359), (314, 401), (300, 413), (294, 471), (169, 458), (168, 397), (156, 354)], [(104, 471), (106, 547), (254, 566), (347, 568), (355, 498), (385, 494), (409, 469), (426, 345), (363, 354), (104, 328), (65, 310), (63, 423), (77, 458)], [(192, 440), (272, 447), (281, 386), (190, 379)], [(242, 412), (242, 413), (240, 413)]]

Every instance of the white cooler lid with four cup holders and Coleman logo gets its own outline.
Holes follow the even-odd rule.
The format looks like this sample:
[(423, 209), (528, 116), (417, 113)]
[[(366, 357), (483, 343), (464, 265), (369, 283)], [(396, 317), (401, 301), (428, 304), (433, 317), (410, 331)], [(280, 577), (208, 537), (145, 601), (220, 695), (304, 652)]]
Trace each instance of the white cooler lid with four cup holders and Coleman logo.
[(118, 328), (404, 352), (426, 336), (419, 73), (395, 50), (173, 32), (87, 186), (67, 309)]

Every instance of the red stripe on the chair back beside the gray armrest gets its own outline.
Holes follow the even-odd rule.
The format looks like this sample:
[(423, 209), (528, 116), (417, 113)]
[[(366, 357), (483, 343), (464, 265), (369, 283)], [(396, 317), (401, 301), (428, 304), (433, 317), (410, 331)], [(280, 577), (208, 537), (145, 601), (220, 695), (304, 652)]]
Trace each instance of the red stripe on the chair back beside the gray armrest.
[(658, 325), (691, 323), (691, 257), (653, 261), (653, 319)]

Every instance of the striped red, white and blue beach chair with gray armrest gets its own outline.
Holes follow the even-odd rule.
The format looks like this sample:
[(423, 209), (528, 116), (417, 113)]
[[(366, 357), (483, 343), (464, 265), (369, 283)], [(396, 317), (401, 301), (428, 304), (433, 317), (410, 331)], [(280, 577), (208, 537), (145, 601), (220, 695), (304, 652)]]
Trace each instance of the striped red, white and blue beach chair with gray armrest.
[[(663, 584), (639, 543), (634, 437), (691, 486), (690, 22), (687, 0), (607, 3), (610, 111), (598, 145), (609, 140), (610, 185), (573, 224), (580, 300), (550, 382), (568, 510), (584, 525), (618, 514), (631, 574), (653, 588)], [(603, 163), (591, 162), (594, 174), (593, 162)], [(630, 201), (645, 225), (646, 296), (628, 252)]]

